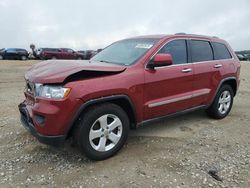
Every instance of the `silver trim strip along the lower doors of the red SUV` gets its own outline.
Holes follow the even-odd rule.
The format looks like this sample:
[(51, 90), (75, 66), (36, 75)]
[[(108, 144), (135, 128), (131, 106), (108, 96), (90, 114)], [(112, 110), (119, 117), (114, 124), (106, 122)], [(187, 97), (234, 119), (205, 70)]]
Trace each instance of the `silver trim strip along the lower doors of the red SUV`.
[(195, 93), (195, 94), (192, 94), (192, 95), (186, 95), (186, 96), (183, 96), (183, 97), (177, 97), (177, 98), (174, 98), (174, 99), (168, 99), (168, 100), (163, 100), (163, 101), (160, 101), (160, 102), (151, 103), (151, 104), (148, 104), (148, 107), (153, 108), (153, 107), (162, 106), (162, 105), (165, 105), (165, 104), (179, 102), (179, 101), (182, 101), (182, 100), (191, 99), (191, 98), (199, 97), (199, 96), (202, 96), (202, 95), (206, 95), (206, 94), (209, 94), (209, 92), (210, 92), (210, 90), (207, 89), (206, 91), (201, 91), (199, 93)]

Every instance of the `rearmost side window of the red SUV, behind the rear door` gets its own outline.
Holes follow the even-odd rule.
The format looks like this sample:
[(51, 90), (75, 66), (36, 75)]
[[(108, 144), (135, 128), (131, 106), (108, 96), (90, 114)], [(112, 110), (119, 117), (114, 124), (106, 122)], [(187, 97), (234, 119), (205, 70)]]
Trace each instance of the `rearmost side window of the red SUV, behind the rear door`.
[(213, 42), (212, 44), (214, 47), (214, 58), (216, 60), (232, 58), (231, 54), (229, 53), (227, 47), (224, 44), (218, 42)]

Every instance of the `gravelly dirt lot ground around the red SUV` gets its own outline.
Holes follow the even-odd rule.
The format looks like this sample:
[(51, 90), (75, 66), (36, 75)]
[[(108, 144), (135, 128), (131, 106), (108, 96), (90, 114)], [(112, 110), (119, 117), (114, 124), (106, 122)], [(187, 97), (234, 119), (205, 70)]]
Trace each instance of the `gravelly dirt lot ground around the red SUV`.
[(34, 63), (0, 61), (0, 187), (250, 187), (250, 62), (227, 118), (198, 111), (141, 127), (100, 162), (69, 143), (40, 144), (21, 126), (23, 75)]

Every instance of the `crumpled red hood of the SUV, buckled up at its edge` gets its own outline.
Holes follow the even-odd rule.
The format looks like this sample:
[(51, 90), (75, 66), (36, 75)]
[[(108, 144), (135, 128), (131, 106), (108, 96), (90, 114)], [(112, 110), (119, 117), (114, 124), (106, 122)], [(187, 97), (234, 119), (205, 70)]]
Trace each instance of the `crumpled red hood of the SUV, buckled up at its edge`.
[(25, 74), (25, 79), (33, 83), (62, 83), (72, 74), (82, 72), (119, 73), (125, 66), (79, 60), (48, 60), (33, 65)]

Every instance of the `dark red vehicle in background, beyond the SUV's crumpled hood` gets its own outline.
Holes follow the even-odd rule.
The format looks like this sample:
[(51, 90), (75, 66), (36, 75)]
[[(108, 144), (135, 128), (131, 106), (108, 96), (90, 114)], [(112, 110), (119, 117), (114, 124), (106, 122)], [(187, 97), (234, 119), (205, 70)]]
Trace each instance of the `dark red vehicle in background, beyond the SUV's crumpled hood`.
[(84, 59), (84, 55), (70, 48), (39, 48), (39, 59)]

